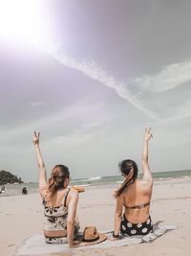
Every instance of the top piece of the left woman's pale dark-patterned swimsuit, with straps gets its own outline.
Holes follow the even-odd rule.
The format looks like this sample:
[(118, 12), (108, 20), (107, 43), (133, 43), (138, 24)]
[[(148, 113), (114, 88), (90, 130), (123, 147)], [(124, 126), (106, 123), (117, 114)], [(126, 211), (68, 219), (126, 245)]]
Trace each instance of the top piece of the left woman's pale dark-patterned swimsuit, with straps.
[(68, 218), (68, 207), (66, 200), (68, 198), (70, 189), (64, 194), (61, 204), (59, 206), (46, 206), (46, 194), (43, 198), (44, 205), (44, 230), (55, 231), (55, 230), (66, 230), (67, 229), (67, 218)]

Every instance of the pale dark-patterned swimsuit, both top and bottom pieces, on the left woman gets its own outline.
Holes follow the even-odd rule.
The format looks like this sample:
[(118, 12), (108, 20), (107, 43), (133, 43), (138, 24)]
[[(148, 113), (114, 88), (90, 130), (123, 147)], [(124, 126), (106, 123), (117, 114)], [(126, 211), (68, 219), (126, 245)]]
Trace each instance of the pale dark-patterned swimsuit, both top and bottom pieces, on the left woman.
[[(46, 195), (43, 199), (44, 205), (44, 230), (46, 231), (60, 231), (67, 230), (67, 218), (68, 218), (68, 207), (66, 206), (66, 200), (69, 195), (70, 189), (65, 193), (62, 198), (60, 206), (46, 206)], [(76, 233), (76, 228), (74, 229)], [(67, 243), (66, 237), (46, 237), (45, 241), (48, 244), (62, 244)]]

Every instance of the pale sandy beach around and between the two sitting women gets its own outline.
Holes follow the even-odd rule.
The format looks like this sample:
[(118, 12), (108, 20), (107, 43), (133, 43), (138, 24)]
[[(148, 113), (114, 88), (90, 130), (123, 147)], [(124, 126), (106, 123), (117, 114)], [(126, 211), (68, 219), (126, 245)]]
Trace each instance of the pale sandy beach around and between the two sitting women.
[[(95, 224), (99, 231), (113, 230), (116, 183), (87, 187), (80, 194), (78, 219), (81, 229)], [(177, 224), (151, 244), (116, 248), (79, 250), (75, 255), (190, 255), (191, 250), (191, 178), (156, 180), (154, 182), (151, 216), (153, 222)], [(43, 206), (38, 194), (0, 198), (0, 255), (11, 256), (23, 241), (42, 233)], [(66, 255), (66, 254), (63, 254)], [(68, 255), (72, 255), (68, 254)]]

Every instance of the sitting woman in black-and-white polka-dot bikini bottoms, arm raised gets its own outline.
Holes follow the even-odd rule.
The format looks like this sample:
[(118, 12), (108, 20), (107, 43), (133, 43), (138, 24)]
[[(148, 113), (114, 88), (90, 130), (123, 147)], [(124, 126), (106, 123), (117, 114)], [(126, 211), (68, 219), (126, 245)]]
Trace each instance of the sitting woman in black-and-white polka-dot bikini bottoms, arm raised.
[[(138, 179), (138, 166), (132, 160), (123, 160), (118, 166), (124, 181), (117, 189), (115, 230), (113, 237), (146, 235), (153, 230), (150, 217), (150, 201), (153, 177), (148, 163), (148, 142), (152, 138), (151, 128), (145, 128), (142, 152), (142, 179)], [(124, 213), (123, 213), (124, 208)]]

